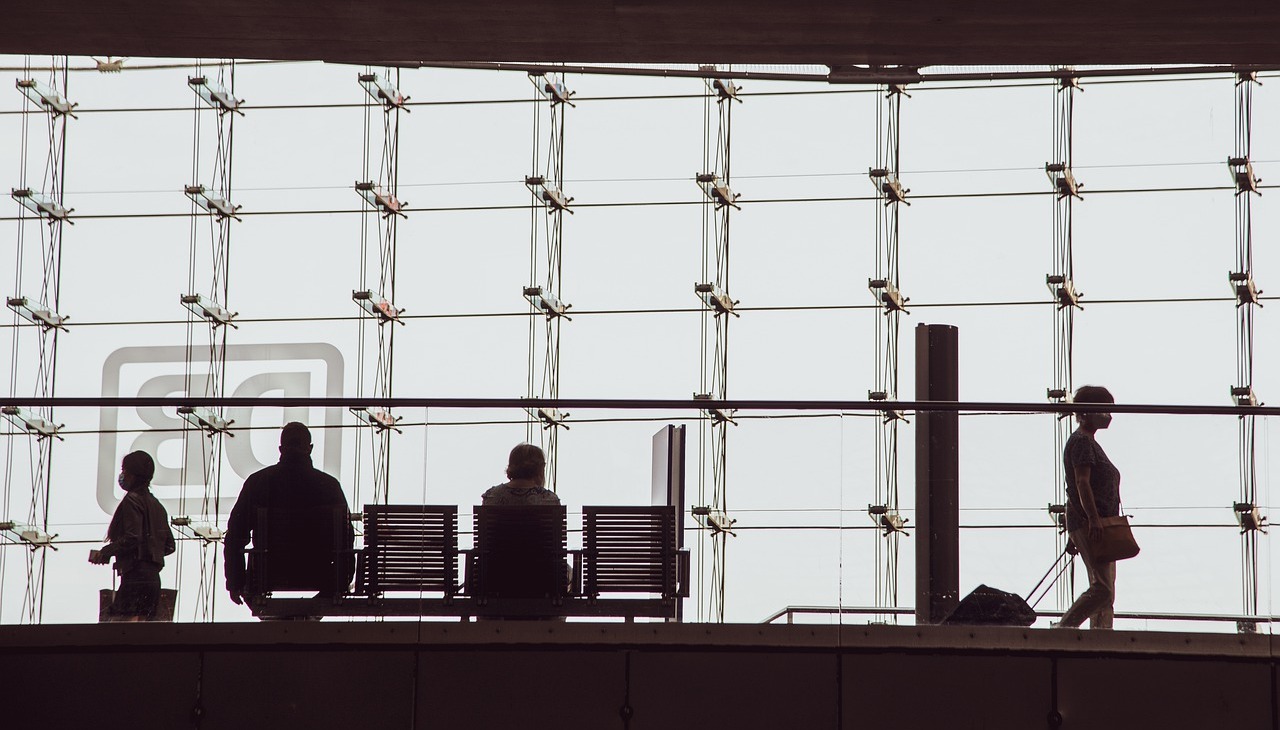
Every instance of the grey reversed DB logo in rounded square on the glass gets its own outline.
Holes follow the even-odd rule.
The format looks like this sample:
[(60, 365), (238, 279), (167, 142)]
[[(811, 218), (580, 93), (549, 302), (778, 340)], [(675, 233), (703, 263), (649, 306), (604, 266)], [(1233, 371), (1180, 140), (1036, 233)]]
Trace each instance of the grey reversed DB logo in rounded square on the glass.
[[(195, 356), (198, 357), (198, 351)], [(211, 393), (206, 389), (210, 377), (207, 364), (193, 364), (188, 378), (186, 360), (187, 348), (182, 346), (116, 350), (102, 365), (102, 396), (202, 397)], [(227, 346), (224, 396), (340, 397), (342, 387), (342, 353), (332, 345)], [(288, 421), (311, 425), (316, 467), (340, 474), (342, 429), (315, 426), (340, 425), (342, 409), (236, 407), (225, 409), (223, 415), (234, 421), (234, 437), (216, 437), (223, 450), (223, 483), (220, 501), (211, 507), (218, 514), (230, 511), (246, 476), (276, 462), (279, 428)], [(156, 474), (151, 491), (169, 514), (201, 511), (209, 460), (216, 453), (204, 432), (191, 428), (175, 407), (102, 409), (100, 419), (97, 503), (106, 514), (114, 512), (120, 501), (115, 475), (120, 458), (131, 451), (146, 451), (155, 457)], [(183, 497), (186, 510), (180, 508)]]

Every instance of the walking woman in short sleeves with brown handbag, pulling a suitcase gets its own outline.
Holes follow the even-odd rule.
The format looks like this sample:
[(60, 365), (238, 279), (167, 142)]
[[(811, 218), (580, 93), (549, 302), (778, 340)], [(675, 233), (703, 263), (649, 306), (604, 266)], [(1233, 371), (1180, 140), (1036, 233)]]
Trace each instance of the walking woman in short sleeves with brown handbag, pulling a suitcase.
[[(1075, 392), (1076, 403), (1115, 403), (1111, 392), (1101, 385), (1083, 385)], [(1132, 543), (1130, 551), (1120, 551), (1119, 557), (1137, 553), (1128, 521), (1120, 517), (1120, 470), (1102, 451), (1097, 432), (1111, 425), (1111, 414), (1076, 414), (1080, 424), (1062, 450), (1066, 470), (1066, 531), (1080, 553), (1089, 575), (1089, 588), (1071, 603), (1056, 625), (1075, 629), (1089, 620), (1091, 629), (1110, 629), (1115, 621), (1116, 551), (1115, 535), (1123, 531)], [(1108, 520), (1107, 517), (1112, 517)], [(1123, 525), (1120, 524), (1123, 523)], [(1126, 555), (1128, 553), (1128, 555)]]

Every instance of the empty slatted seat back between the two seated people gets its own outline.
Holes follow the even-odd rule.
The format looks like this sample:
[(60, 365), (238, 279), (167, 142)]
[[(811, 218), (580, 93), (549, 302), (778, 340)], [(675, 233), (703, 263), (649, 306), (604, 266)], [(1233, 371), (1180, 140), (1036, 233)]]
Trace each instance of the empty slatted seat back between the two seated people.
[(430, 590), (458, 585), (456, 505), (366, 505), (365, 549), (356, 590)]

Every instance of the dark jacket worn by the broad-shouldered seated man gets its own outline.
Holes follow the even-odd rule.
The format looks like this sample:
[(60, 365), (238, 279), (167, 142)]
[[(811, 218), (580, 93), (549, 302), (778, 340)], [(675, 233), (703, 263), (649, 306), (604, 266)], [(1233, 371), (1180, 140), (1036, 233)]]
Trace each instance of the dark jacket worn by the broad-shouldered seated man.
[[(310, 455), (282, 453), (280, 462), (256, 471), (244, 480), (244, 488), (232, 507), (227, 521), (227, 534), (223, 537), (227, 562), (227, 590), (241, 594), (244, 590), (244, 548), (259, 529), (259, 510), (307, 510), (330, 507), (348, 512), (347, 497), (342, 485), (333, 476), (311, 466)], [(343, 543), (337, 546), (343, 555), (349, 556), (355, 544), (355, 530), (351, 520), (343, 519)], [(255, 547), (261, 547), (255, 539)], [(351, 583), (355, 565), (344, 560), (342, 571)]]

